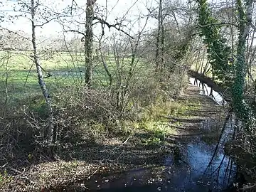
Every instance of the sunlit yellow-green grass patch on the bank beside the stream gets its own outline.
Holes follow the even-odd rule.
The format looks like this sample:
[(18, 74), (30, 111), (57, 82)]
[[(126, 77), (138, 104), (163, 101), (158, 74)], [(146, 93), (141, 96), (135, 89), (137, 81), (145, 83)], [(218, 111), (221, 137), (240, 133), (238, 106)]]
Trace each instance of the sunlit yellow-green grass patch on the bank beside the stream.
[(139, 121), (125, 122), (124, 127), (129, 127), (134, 133), (146, 133), (147, 136), (142, 137), (145, 145), (160, 145), (166, 142), (166, 137), (169, 135), (178, 135), (176, 127), (183, 125), (178, 121), (170, 121), (171, 117), (188, 118), (188, 111), (196, 111), (200, 108), (200, 102), (191, 100), (156, 102), (142, 111), (142, 118)]

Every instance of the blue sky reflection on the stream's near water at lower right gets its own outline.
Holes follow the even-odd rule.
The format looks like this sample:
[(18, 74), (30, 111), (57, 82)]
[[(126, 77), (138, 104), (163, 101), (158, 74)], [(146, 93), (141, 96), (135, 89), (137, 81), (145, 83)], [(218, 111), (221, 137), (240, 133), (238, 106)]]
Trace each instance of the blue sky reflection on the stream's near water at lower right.
[[(209, 126), (209, 122), (207, 125)], [(208, 132), (210, 127), (202, 127), (204, 128)], [(171, 156), (166, 159), (169, 170), (175, 173), (171, 175), (170, 191), (220, 191), (230, 186), (235, 178), (236, 167), (233, 163), (231, 166), (230, 158), (224, 154), (225, 139), (222, 137), (218, 149), (215, 149), (219, 134), (215, 137), (215, 142), (210, 144), (203, 141), (207, 141), (208, 134), (193, 137), (189, 142), (181, 144), (179, 162), (182, 166), (174, 164)], [(217, 151), (213, 156), (215, 150)]]

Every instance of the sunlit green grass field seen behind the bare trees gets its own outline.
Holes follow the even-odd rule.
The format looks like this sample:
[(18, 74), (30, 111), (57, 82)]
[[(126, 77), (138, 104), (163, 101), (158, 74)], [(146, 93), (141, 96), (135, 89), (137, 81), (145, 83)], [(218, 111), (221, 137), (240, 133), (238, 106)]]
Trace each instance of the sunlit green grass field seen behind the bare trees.
[[(36, 67), (33, 64), (32, 53), (29, 52), (0, 52), (0, 94), (6, 95), (6, 83), (8, 86), (9, 100), (19, 100), (28, 95), (36, 95), (40, 92)], [(79, 85), (85, 79), (85, 56), (82, 53), (54, 53), (54, 55), (40, 54), (41, 67), (46, 78), (46, 85), (50, 92), (67, 86)], [(107, 85), (107, 73), (102, 62), (95, 58), (93, 86), (104, 87)], [(106, 58), (112, 77), (117, 77), (117, 65), (122, 73), (128, 74), (131, 58), (121, 58), (119, 63), (114, 55)], [(139, 60), (135, 71), (146, 73), (149, 67)], [(138, 75), (143, 78), (144, 75)], [(123, 77), (125, 80), (125, 77)], [(146, 77), (144, 77), (146, 78)]]

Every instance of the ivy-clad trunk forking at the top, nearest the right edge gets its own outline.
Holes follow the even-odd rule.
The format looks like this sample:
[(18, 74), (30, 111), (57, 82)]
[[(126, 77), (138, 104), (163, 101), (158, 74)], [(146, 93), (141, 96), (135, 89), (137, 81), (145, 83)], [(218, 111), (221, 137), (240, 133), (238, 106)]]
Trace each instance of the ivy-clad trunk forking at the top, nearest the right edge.
[(233, 84), (233, 108), (240, 119), (247, 122), (249, 118), (248, 109), (244, 102), (244, 87), (246, 75), (245, 62), (245, 44), (246, 38), (250, 33), (250, 24), (252, 22), (252, 0), (246, 0), (246, 11), (242, 7), (241, 0), (237, 0), (239, 14), (239, 36), (237, 48), (237, 62), (235, 63), (235, 82)]

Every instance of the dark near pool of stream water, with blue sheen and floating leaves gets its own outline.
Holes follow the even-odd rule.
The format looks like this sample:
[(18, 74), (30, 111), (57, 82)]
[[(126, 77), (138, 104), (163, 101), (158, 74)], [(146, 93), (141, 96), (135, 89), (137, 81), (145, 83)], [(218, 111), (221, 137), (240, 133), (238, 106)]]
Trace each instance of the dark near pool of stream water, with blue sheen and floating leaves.
[(180, 144), (178, 158), (171, 154), (158, 169), (131, 171), (109, 181), (107, 178), (107, 183), (99, 183), (98, 190), (203, 192), (227, 189), (235, 178), (235, 164), (225, 156), (223, 144), (213, 156), (217, 141), (203, 141), (207, 139), (207, 136), (193, 137)]

